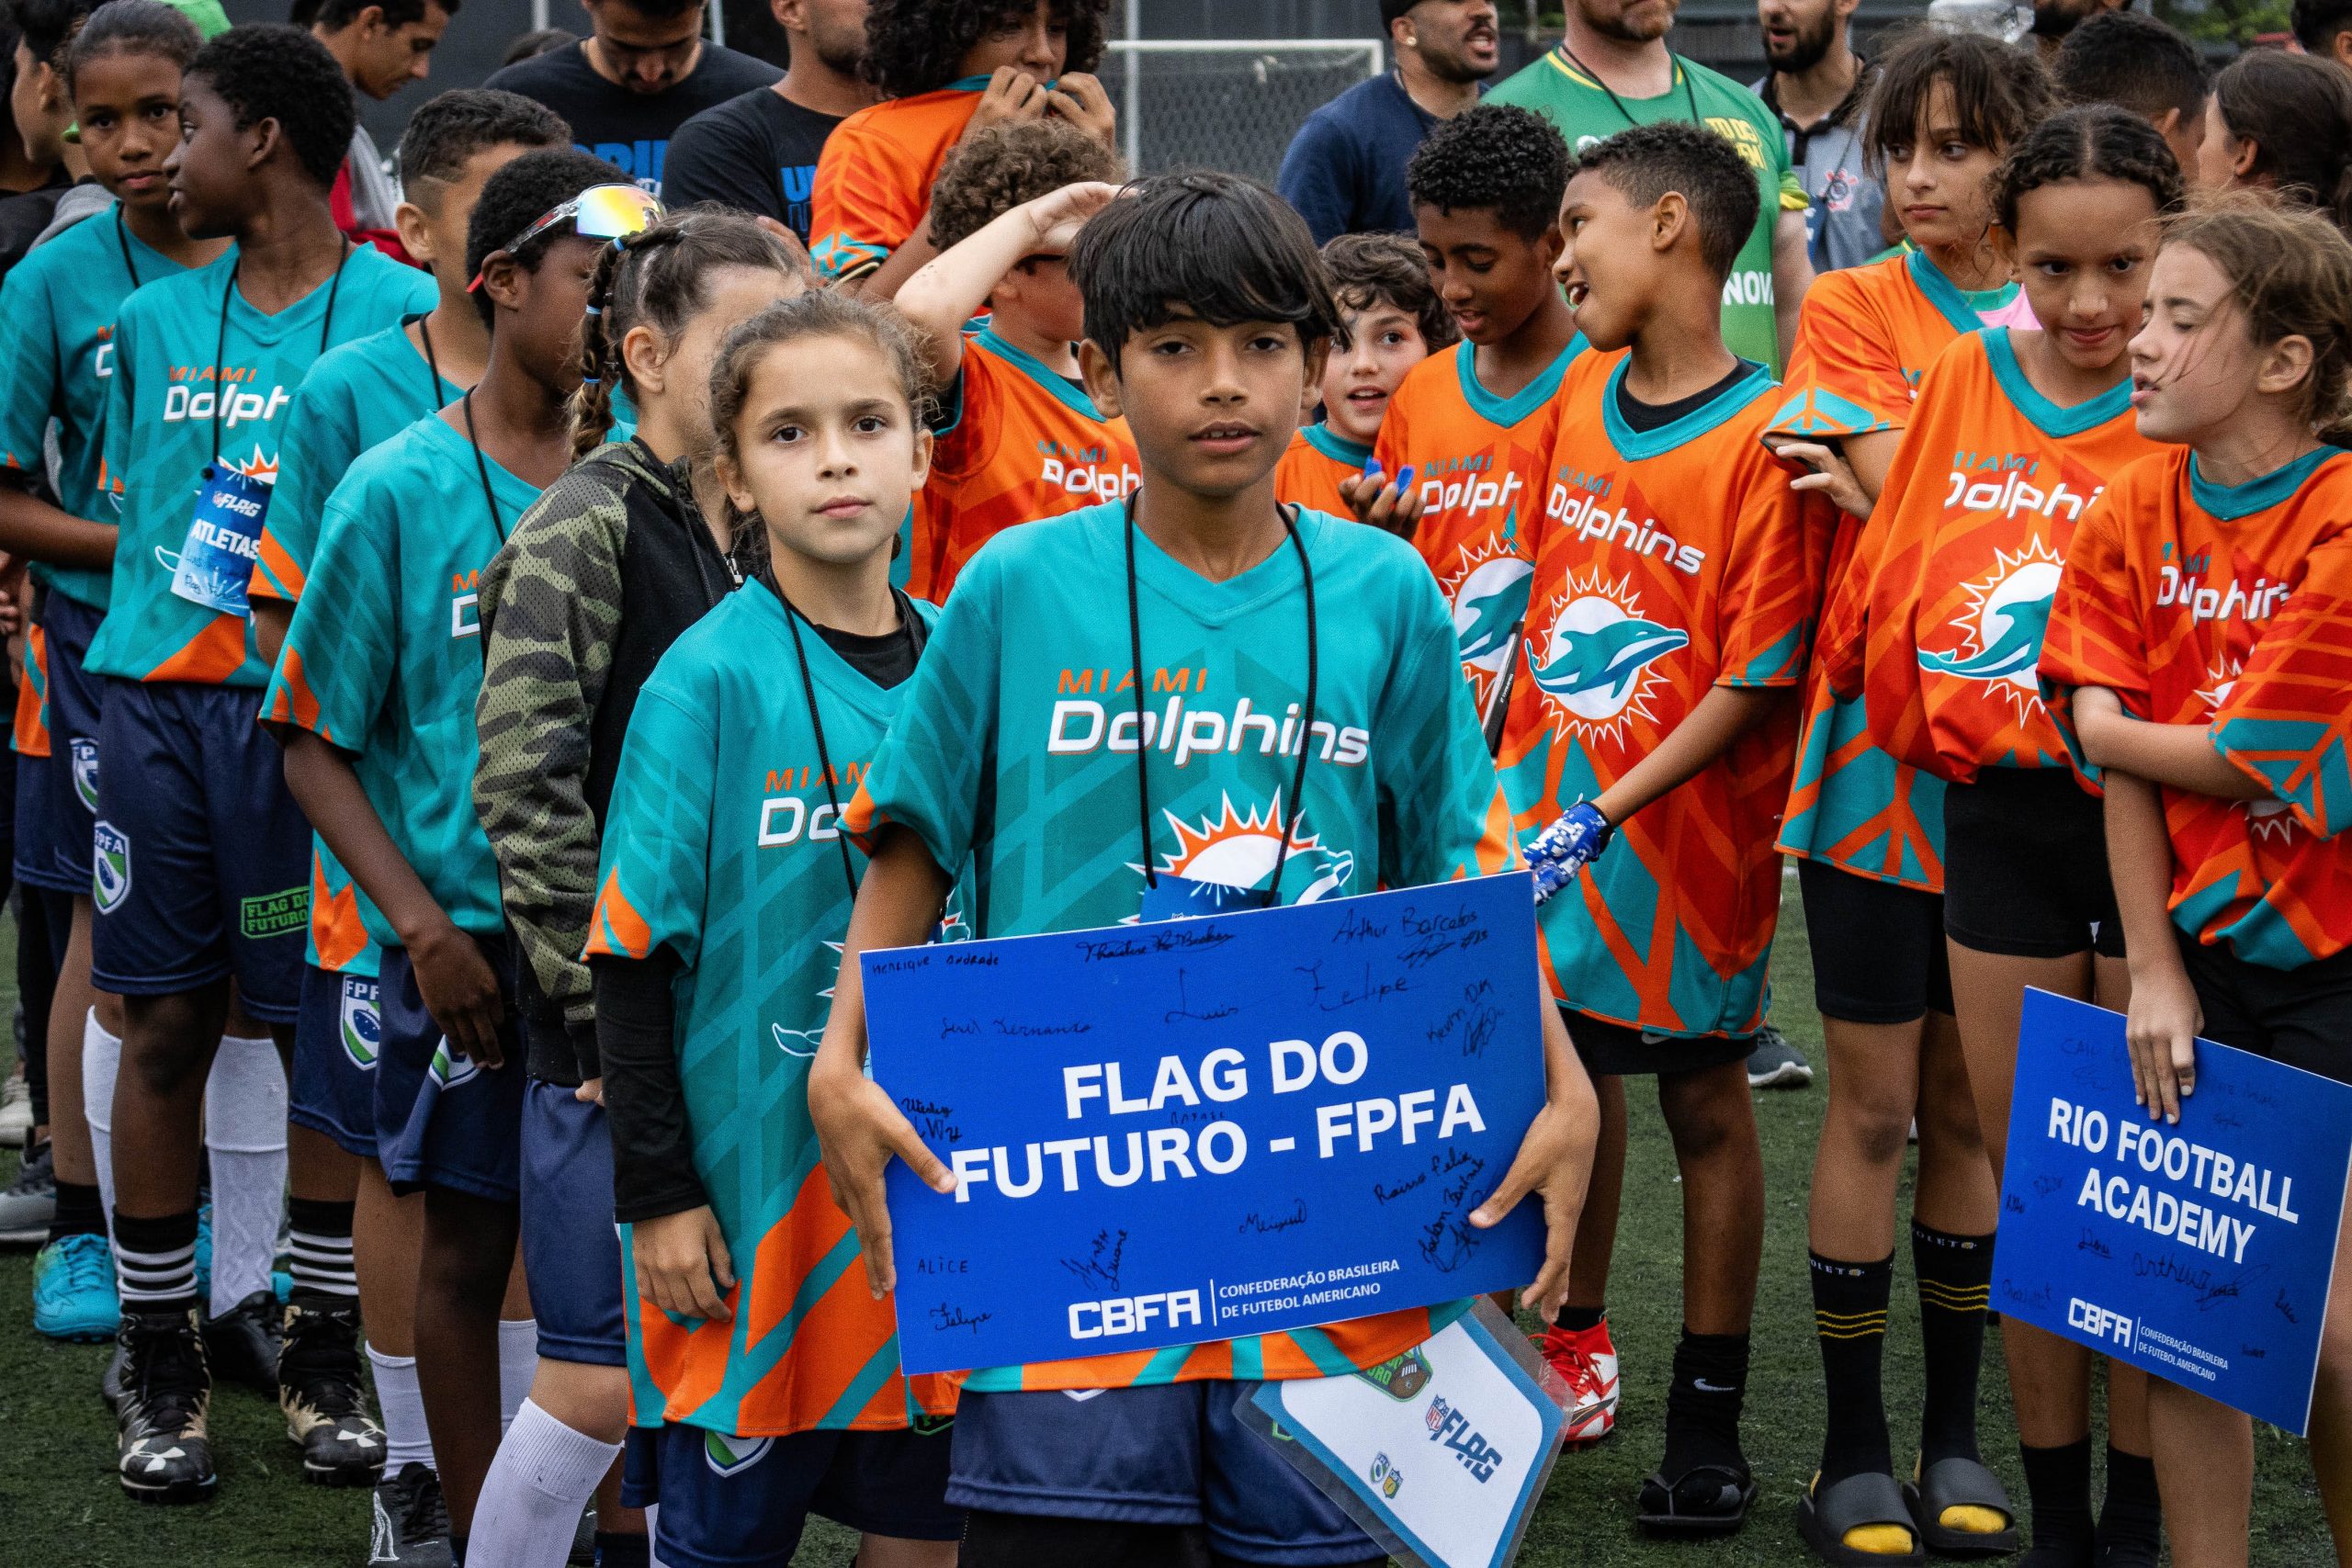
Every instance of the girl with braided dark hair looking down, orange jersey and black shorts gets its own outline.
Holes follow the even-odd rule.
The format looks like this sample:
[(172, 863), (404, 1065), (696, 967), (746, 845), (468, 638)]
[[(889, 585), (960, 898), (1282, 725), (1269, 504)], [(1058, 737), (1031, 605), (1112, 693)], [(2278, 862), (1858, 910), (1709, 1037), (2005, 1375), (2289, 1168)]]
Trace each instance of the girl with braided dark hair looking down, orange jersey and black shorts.
[[(1929, 367), (1818, 646), (1830, 689), (1842, 701), (1863, 698), (1877, 748), (1945, 780), (1943, 924), (1990, 1166), (1971, 1173), (1964, 1234), (1912, 1227), (1931, 1361), (1952, 1307), (1980, 1309), (1992, 1281), (1983, 1232), (1992, 1229), (2006, 1154), (2025, 987), (2105, 1006), (2122, 1006), (2129, 992), (2098, 778), (2077, 773), (2042, 705), (2034, 658), (2084, 510), (2117, 470), (2157, 451), (2131, 421), (2126, 348), (2147, 299), (2157, 223), (2180, 207), (2180, 169), (2147, 120), (2089, 106), (2011, 146), (1990, 195), (1994, 244), (2042, 327), (1964, 334)], [(1955, 454), (1969, 454), (1966, 463)], [(1830, 1081), (1832, 1095), (1879, 1107), (1889, 1128), (1919, 1100), (1915, 1063), (1893, 1056), (1863, 1084)], [(1889, 1147), (1900, 1159), (1900, 1131)], [(1903, 1516), (1877, 1406), (1893, 1262), (1882, 1258), (1891, 1253), (1886, 1197), (1891, 1187), (1877, 1199), (1877, 1244), (1860, 1260), (1851, 1251), (1823, 1258), (1828, 1248), (1816, 1244), (1830, 1441), (1823, 1479), (1802, 1507), (1806, 1540), (1832, 1563), (1858, 1561), (1851, 1552), (1867, 1552), (1872, 1530), (1905, 1523), (1936, 1552), (2009, 1547), (2009, 1509), (1994, 1507), (2002, 1490), (1978, 1462), (1973, 1382), (1959, 1389), (1964, 1399), (1929, 1399), (1912, 1519)], [(1877, 1328), (1830, 1331), (1865, 1319)], [(1971, 1338), (1971, 1373), (1978, 1345)], [(2154, 1472), (2129, 1453), (2122, 1420), (2110, 1422), (2110, 1439), (2126, 1446), (2110, 1441), (2107, 1507), (2091, 1523), (2091, 1352), (2018, 1321), (2002, 1331), (2002, 1345), (2034, 1488), (2025, 1561), (2086, 1568), (2098, 1547), (2107, 1563), (2152, 1563)], [(2107, 1378), (2117, 1403), (2145, 1389), (2145, 1375), (2122, 1366), (2110, 1363)], [(1870, 1399), (1844, 1399), (1853, 1382), (1867, 1382)]]

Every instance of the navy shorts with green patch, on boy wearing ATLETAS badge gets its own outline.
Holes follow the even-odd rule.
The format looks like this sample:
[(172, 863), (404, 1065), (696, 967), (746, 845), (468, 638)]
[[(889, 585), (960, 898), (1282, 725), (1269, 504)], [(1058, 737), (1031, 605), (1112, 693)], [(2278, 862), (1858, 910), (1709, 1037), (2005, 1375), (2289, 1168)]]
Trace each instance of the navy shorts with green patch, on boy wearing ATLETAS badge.
[(310, 938), (310, 823), (252, 686), (106, 684), (99, 910), (89, 978), (176, 997), (235, 978), (245, 1011), (294, 1023)]

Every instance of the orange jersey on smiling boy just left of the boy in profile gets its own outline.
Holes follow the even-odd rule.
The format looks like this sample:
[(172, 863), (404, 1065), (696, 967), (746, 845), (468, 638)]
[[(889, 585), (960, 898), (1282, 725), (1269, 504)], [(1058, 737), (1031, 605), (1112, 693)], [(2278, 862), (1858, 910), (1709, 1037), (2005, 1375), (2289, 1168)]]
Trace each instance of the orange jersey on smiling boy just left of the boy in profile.
[(1414, 470), (1423, 503), (1414, 545), (1454, 611), (1463, 677), (1482, 717), (1501, 696), (1526, 616), (1552, 458), (1552, 404), (1562, 374), (1581, 353), (1585, 341), (1578, 336), (1541, 376), (1496, 397), (1477, 378), (1477, 346), (1463, 339), (1454, 353), (1430, 355), (1404, 374), (1374, 442), (1383, 473)]

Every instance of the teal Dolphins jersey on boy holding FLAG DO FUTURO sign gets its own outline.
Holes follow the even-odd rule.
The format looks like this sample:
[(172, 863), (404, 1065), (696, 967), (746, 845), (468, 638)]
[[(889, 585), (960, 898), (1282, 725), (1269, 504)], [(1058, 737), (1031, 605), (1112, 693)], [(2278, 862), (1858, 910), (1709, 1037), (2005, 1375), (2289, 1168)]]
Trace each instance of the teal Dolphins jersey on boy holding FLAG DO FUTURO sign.
[[(1138, 743), (1157, 875), (1261, 891), (1305, 743), (1284, 903), (1505, 870), (1510, 820), (1428, 567), (1404, 541), (1324, 512), (1301, 512), (1298, 538), (1319, 609), (1312, 715), (1301, 712), (1308, 607), (1289, 543), (1211, 583), (1136, 529), (1134, 670), (1122, 508), (1007, 529), (941, 611), (849, 806), (851, 832), (870, 842), (896, 823), (943, 867), (971, 858), (978, 936), (1115, 926), (1143, 900)], [(990, 1368), (969, 1387), (1319, 1378), (1378, 1366), (1461, 1309)]]

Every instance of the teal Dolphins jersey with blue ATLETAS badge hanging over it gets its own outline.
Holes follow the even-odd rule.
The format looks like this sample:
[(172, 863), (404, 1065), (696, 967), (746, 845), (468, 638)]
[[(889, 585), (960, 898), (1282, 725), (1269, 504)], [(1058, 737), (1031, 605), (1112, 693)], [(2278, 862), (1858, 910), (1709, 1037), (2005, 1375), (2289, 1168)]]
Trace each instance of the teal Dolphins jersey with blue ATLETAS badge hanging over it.
[[(268, 682), (249, 621), (172, 592), (214, 425), (223, 468), (275, 482), (287, 407), (322, 339), (325, 348), (348, 343), (435, 299), (430, 275), (362, 244), (343, 259), (341, 284), (322, 282), (263, 315), (233, 287), (233, 266), (235, 252), (146, 284), (115, 327), (103, 463), (122, 484), (122, 536), (113, 599), (89, 644), (89, 668), (99, 675), (212, 686)], [(214, 362), (223, 299), (226, 348)]]

